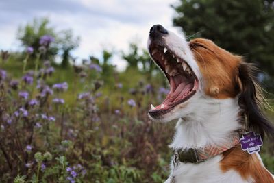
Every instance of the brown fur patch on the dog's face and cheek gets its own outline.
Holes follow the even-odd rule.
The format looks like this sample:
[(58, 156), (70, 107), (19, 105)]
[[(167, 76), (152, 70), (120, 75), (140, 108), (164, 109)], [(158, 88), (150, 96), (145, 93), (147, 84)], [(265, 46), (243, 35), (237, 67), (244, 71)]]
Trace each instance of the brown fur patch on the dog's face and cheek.
[(203, 75), (206, 95), (217, 99), (235, 97), (239, 92), (236, 76), (240, 56), (234, 56), (203, 38), (191, 40), (190, 49)]

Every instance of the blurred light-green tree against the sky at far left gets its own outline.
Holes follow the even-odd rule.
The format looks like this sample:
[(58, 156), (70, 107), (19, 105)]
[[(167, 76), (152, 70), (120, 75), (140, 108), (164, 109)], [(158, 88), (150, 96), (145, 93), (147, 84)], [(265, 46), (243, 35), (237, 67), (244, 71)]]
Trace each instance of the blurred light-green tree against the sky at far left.
[[(43, 44), (43, 41), (45, 42), (48, 38), (51, 38), (50, 44)], [(79, 37), (73, 37), (73, 32), (70, 29), (56, 32), (53, 27), (50, 27), (47, 18), (34, 19), (25, 27), (19, 27), (18, 39), (24, 47), (34, 48), (33, 57), (41, 49), (41, 46), (47, 48), (44, 59), (53, 60), (54, 56), (62, 53), (62, 66), (69, 65), (71, 50), (79, 45)]]

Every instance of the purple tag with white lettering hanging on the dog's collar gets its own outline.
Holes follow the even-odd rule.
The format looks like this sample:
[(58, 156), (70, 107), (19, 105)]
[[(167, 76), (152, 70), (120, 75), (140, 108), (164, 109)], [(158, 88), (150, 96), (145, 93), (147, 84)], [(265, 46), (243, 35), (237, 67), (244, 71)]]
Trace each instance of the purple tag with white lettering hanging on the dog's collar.
[(247, 132), (246, 134), (242, 134), (242, 138), (240, 138), (240, 146), (242, 147), (242, 151), (247, 151), (249, 154), (253, 154), (260, 151), (262, 138), (260, 134)]

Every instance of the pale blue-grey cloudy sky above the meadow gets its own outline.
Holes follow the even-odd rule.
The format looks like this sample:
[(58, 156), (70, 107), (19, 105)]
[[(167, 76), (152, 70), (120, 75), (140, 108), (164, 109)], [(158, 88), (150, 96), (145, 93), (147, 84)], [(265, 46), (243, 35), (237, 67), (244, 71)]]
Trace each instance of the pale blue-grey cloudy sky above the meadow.
[[(99, 56), (102, 49), (127, 51), (129, 42), (146, 47), (149, 29), (161, 24), (172, 27), (178, 0), (1, 0), (0, 49), (17, 50), (18, 26), (34, 17), (49, 17), (57, 30), (72, 29), (81, 38), (74, 56)], [(114, 64), (123, 64), (116, 60)], [(118, 63), (119, 62), (119, 63)]]

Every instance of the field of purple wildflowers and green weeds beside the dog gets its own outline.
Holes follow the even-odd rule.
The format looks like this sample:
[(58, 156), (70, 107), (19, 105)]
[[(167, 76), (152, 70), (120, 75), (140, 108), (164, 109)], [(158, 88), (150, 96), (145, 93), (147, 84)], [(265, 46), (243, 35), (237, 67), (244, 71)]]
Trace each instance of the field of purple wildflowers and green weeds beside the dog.
[(62, 68), (44, 57), (51, 41), (23, 60), (2, 52), (0, 182), (163, 182), (175, 123), (147, 117), (169, 92), (161, 73), (92, 60)]

